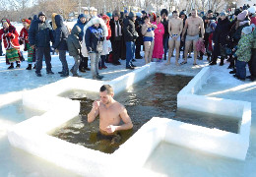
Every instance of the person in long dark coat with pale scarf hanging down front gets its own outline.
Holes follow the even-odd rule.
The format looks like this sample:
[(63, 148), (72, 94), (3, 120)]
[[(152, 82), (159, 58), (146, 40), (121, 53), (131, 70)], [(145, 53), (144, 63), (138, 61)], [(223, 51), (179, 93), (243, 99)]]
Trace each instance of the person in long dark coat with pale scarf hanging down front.
[(112, 45), (112, 64), (121, 65), (119, 58), (121, 57), (123, 21), (120, 19), (120, 14), (118, 12), (113, 12), (113, 18), (110, 20), (109, 26), (111, 29), (110, 41)]

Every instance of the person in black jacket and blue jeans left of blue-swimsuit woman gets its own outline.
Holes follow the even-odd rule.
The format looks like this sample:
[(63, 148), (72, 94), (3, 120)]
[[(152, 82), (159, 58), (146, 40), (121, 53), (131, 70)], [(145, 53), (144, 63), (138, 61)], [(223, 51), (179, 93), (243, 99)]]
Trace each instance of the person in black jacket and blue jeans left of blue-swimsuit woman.
[(133, 70), (135, 65), (132, 63), (132, 59), (135, 52), (135, 40), (137, 39), (138, 32), (135, 30), (135, 15), (133, 12), (129, 13), (129, 16), (124, 19), (123, 31), (124, 41), (126, 44), (126, 69)]

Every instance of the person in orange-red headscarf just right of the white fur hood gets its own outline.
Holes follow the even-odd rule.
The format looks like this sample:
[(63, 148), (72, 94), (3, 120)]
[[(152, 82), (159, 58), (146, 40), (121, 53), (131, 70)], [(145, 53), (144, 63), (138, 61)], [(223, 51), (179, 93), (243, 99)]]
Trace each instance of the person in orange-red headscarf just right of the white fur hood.
[(109, 40), (109, 38), (111, 37), (111, 29), (110, 29), (110, 26), (109, 26), (110, 19), (106, 15), (103, 15), (101, 17), (101, 19), (104, 21), (104, 23), (106, 25), (106, 28), (107, 28), (107, 31), (108, 31), (108, 36), (105, 37), (105, 39), (103, 40), (103, 43), (102, 43), (103, 50), (101, 52), (100, 60), (98, 62), (98, 69), (99, 70), (107, 68), (105, 66), (105, 59), (106, 59), (106, 55), (108, 55), (110, 50), (111, 50), (111, 42)]

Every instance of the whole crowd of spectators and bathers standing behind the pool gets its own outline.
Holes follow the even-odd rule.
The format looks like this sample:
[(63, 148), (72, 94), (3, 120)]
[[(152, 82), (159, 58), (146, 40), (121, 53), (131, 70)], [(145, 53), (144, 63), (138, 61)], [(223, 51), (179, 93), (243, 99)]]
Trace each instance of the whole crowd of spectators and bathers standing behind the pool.
[[(170, 65), (175, 51), (175, 65), (180, 66), (187, 64), (193, 51), (193, 65), (197, 65), (197, 60), (203, 60), (204, 55), (210, 66), (217, 65), (218, 58), (221, 59), (220, 66), (223, 66), (226, 59), (233, 77), (254, 81), (255, 10), (255, 6), (244, 6), (228, 13), (209, 10), (206, 15), (198, 14), (194, 9), (189, 14), (186, 11), (168, 13), (166, 9), (160, 13), (114, 11), (96, 17), (81, 14), (73, 29), (64, 25), (61, 15), (52, 14), (48, 23), (46, 15), (40, 12), (33, 19), (22, 20), (24, 28), (20, 34), (8, 19), (2, 19), (0, 39), (6, 49), (8, 69), (20, 68), (25, 60), (20, 46), (24, 45), (24, 51), (28, 51), (27, 70), (35, 69), (37, 77), (41, 77), (43, 60), (46, 73), (54, 74), (50, 53), (55, 50), (62, 64), (62, 71), (58, 72), (61, 77), (70, 73), (81, 77), (78, 72), (91, 71), (95, 80), (103, 78), (99, 70), (107, 68), (105, 63), (117, 66), (123, 59), (126, 60), (125, 68), (130, 70), (136, 67), (133, 63), (136, 59), (143, 58), (145, 64), (166, 60), (165, 65)], [(142, 48), (144, 57), (141, 56)], [(74, 66), (70, 70), (67, 51), (74, 58)], [(179, 62), (181, 56), (183, 61)], [(250, 76), (246, 77), (247, 63)]]

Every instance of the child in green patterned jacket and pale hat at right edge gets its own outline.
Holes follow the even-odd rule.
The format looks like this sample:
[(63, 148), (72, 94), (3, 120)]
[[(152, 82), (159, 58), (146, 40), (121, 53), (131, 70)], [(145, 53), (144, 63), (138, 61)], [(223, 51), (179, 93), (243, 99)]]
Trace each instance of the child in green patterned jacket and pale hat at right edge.
[(242, 29), (242, 35), (237, 45), (235, 55), (237, 56), (236, 62), (236, 74), (233, 76), (238, 80), (244, 81), (246, 78), (246, 64), (251, 59), (251, 48), (252, 48), (252, 28), (245, 27)]

